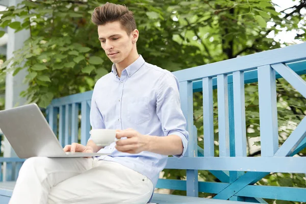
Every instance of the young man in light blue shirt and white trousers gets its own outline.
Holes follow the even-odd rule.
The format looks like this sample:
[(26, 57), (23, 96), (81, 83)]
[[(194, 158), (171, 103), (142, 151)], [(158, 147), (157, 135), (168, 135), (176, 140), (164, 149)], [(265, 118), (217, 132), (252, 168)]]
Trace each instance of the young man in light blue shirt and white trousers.
[(147, 203), (167, 156), (182, 157), (188, 133), (177, 79), (138, 55), (133, 13), (107, 3), (92, 14), (101, 47), (114, 63), (94, 87), (92, 129), (116, 129), (121, 140), (106, 147), (89, 139), (65, 151), (106, 152), (98, 158), (30, 158), (10, 203)]

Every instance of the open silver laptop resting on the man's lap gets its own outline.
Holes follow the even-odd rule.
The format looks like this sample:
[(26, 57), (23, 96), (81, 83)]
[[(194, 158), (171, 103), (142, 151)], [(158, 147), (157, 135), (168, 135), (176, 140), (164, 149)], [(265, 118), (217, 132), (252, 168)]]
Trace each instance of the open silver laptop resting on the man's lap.
[(106, 153), (65, 152), (36, 104), (0, 111), (0, 129), (19, 158), (94, 157)]

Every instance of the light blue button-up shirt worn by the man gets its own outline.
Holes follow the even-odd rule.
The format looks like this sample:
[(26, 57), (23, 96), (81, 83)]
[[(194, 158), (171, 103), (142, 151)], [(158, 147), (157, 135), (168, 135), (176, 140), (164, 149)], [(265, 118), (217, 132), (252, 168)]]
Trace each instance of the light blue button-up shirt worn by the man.
[[(112, 72), (100, 78), (91, 99), (92, 129), (132, 128), (143, 135), (177, 135), (187, 149), (186, 119), (181, 110), (179, 82), (165, 69), (146, 63), (142, 56), (126, 67), (118, 77), (115, 64)], [(129, 167), (157, 184), (159, 173), (168, 156), (142, 151), (139, 154), (120, 152), (113, 142), (99, 152), (111, 152), (98, 159), (114, 161)]]

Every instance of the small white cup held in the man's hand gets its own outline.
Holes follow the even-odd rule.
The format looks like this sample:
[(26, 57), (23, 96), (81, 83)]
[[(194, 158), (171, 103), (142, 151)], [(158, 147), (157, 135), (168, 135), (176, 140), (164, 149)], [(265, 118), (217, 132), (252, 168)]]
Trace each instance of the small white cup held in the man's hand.
[(90, 132), (92, 141), (97, 146), (108, 146), (112, 142), (116, 142), (116, 130), (111, 129), (94, 129)]

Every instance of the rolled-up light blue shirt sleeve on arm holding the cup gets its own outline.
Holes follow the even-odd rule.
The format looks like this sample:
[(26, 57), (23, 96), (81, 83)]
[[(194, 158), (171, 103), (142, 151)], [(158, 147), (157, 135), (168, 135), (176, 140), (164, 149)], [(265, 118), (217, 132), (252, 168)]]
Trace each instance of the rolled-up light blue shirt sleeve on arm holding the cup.
[(181, 158), (185, 155), (189, 134), (186, 131), (186, 119), (181, 109), (179, 81), (167, 72), (160, 80), (157, 89), (157, 115), (162, 123), (164, 136), (177, 135), (182, 139), (182, 155), (173, 155)]

